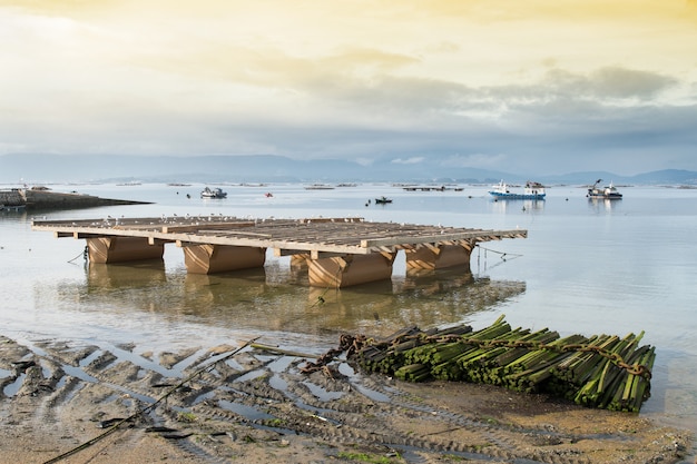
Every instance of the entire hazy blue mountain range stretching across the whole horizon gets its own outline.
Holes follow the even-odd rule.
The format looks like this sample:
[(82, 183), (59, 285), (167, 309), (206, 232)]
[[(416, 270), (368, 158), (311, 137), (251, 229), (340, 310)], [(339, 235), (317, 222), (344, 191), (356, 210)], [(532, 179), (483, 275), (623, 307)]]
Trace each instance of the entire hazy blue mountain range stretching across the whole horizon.
[(477, 168), (375, 161), (363, 166), (344, 160), (295, 160), (282, 156), (89, 156), (3, 155), (0, 182), (435, 182), (492, 184), (537, 180), (546, 185), (582, 184), (605, 179), (616, 185), (697, 186), (697, 172), (665, 169), (637, 176), (607, 171), (544, 175)]

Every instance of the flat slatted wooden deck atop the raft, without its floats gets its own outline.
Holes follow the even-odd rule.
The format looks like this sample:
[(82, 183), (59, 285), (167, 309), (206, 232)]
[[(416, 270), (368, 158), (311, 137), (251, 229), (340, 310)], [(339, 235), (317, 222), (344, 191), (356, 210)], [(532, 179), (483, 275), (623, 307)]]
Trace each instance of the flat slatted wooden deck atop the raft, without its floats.
[(371, 223), (363, 218), (237, 218), (220, 215), (159, 218), (35, 220), (32, 230), (56, 237), (145, 237), (180, 244), (273, 248), (276, 256), (395, 253), (424, 246), (469, 245), (503, 238), (526, 238), (524, 229), (489, 230), (415, 224)]

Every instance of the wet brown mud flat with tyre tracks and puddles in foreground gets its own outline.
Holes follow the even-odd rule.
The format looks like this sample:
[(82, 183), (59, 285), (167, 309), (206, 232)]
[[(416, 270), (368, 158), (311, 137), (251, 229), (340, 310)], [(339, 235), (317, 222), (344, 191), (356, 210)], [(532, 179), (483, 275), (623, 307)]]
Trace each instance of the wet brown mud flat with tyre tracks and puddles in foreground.
[(634, 414), (345, 362), (303, 374), (308, 361), (0, 335), (0, 462), (677, 463), (689, 450), (689, 431)]

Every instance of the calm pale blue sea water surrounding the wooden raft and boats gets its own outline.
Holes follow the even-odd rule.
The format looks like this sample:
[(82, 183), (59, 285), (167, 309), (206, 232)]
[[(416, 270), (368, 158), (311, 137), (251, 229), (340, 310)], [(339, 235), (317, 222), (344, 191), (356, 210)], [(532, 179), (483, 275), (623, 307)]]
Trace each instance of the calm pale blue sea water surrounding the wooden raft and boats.
[[(657, 347), (652, 395), (642, 413), (697, 424), (697, 190), (624, 187), (619, 201), (591, 201), (585, 189), (556, 186), (544, 201), (493, 201), (487, 186), (406, 191), (392, 185), (306, 190), (302, 185), (51, 186), (153, 205), (0, 214), (1, 333), (73, 345), (135, 344), (163, 352), (216, 343), (263, 342), (323, 353), (342, 332), (386, 335), (399, 328), (491, 324), (549, 327), (561, 335), (645, 332)], [(273, 197), (266, 197), (266, 191)], [(188, 195), (188, 197), (187, 197)], [(385, 195), (391, 205), (369, 199)], [(269, 251), (264, 269), (187, 275), (180, 249), (163, 264), (90, 265), (84, 240), (32, 231), (40, 219), (110, 216), (364, 217), (490, 229), (524, 228), (527, 239), (482, 244), (471, 274), (406, 273), (397, 256), (391, 282), (336, 290), (308, 288), (306, 276)], [(320, 304), (320, 296), (323, 304)]]

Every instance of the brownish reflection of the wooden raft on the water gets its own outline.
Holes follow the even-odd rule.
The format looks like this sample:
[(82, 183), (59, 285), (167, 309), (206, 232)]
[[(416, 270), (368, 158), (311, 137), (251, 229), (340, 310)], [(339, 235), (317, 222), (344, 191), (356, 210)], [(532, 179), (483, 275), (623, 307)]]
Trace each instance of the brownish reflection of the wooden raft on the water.
[(526, 290), (524, 283), (475, 277), (468, 267), (342, 289), (310, 287), (306, 275), (278, 263), (215, 275), (166, 272), (161, 261), (89, 264), (86, 270), (85, 284), (63, 287), (58, 296), (67, 303), (79, 295), (82, 312), (149, 313), (169, 322), (304, 334), (387, 335), (410, 325), (455, 324)]

